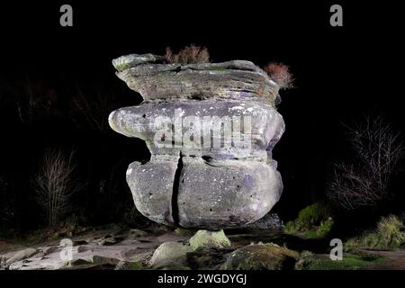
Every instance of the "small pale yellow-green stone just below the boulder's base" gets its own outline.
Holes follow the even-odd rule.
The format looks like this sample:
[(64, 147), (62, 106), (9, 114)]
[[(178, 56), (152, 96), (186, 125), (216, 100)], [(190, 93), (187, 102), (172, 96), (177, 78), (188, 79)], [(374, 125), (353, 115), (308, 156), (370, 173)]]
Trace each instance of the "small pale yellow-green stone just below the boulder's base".
[(225, 236), (223, 230), (198, 230), (197, 233), (190, 238), (189, 243), (193, 251), (197, 249), (230, 247), (229, 238)]

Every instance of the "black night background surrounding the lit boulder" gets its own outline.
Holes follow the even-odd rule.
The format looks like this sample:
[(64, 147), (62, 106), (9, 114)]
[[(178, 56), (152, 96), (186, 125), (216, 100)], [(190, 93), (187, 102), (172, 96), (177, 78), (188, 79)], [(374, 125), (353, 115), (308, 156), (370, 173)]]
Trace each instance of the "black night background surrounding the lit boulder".
[[(73, 27), (59, 25), (61, 4), (73, 6)], [(329, 25), (331, 4), (343, 6), (343, 27)], [(280, 61), (291, 67), (296, 87), (281, 94), (286, 131), (274, 151), (284, 179), (275, 211), (291, 218), (324, 197), (334, 163), (351, 157), (341, 121), (378, 112), (395, 129), (405, 129), (401, 38), (401, 9), (389, 3), (2, 3), (0, 175), (13, 194), (13, 223), (22, 229), (40, 223), (30, 179), (48, 147), (76, 150), (87, 183), (75, 195), (77, 213), (94, 225), (125, 217), (133, 206), (126, 167), (147, 158), (148, 149), (108, 126), (94, 130), (72, 112), (72, 99), (82, 93), (93, 101), (102, 93), (109, 103), (106, 121), (108, 112), (141, 100), (114, 75), (112, 58), (164, 54), (166, 46), (178, 50), (190, 43), (207, 47), (214, 62)], [(50, 110), (24, 122), (15, 99), (32, 87)]]

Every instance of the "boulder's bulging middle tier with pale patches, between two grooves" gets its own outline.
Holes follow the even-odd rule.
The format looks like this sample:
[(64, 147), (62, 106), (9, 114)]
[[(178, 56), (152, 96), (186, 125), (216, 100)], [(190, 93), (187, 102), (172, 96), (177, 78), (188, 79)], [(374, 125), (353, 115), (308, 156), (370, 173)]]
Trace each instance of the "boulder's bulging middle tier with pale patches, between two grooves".
[[(200, 125), (199, 134), (202, 141), (189, 141), (189, 145), (184, 145), (181, 141), (186, 140), (185, 137), (175, 137), (194, 132), (184, 119), (196, 120)], [(250, 125), (249, 132), (241, 131), (241, 138), (246, 137), (251, 142), (237, 143), (238, 139), (234, 137), (231, 139), (235, 142), (234, 145), (226, 145), (223, 134), (212, 133), (211, 130), (219, 130), (221, 125), (230, 125), (232, 120), (241, 121), (240, 126), (244, 123)], [(241, 100), (141, 103), (139, 106), (112, 112), (109, 121), (113, 130), (128, 137), (145, 140), (153, 155), (178, 155), (182, 152), (183, 155), (193, 156), (266, 159), (266, 152), (271, 152), (284, 132), (283, 117), (273, 106)], [(175, 133), (172, 131), (172, 125), (175, 126)], [(162, 140), (164, 134), (165, 139)], [(220, 145), (214, 146), (213, 143)]]

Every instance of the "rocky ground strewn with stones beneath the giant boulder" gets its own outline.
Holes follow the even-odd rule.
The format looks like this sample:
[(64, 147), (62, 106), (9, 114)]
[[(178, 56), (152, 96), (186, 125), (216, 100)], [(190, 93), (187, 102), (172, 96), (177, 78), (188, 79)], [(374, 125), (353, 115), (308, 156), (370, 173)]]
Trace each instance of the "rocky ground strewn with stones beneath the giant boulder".
[[(0, 268), (53, 269), (405, 269), (405, 250), (359, 250), (331, 261), (328, 243), (274, 229), (209, 232), (167, 229), (93, 229), (71, 237), (72, 257), (61, 238), (0, 241)], [(60, 255), (62, 254), (62, 258)]]

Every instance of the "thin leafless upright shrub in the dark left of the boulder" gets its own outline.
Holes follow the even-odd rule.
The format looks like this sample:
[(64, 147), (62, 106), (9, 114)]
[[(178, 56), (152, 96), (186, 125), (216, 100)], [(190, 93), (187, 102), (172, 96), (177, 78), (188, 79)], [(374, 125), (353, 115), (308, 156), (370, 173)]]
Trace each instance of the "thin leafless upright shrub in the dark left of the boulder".
[(66, 156), (61, 150), (48, 150), (34, 177), (36, 199), (46, 212), (50, 226), (70, 211), (71, 195), (83, 187), (74, 177), (73, 156), (74, 152)]

